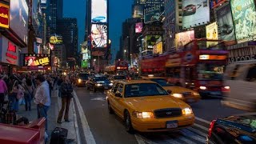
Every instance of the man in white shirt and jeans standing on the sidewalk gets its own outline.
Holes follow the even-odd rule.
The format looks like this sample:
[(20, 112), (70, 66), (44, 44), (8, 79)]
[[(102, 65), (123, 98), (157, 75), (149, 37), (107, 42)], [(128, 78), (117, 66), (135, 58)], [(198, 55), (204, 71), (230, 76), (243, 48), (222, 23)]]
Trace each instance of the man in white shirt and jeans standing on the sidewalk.
[(34, 95), (34, 102), (37, 104), (38, 108), (38, 118), (46, 118), (46, 131), (47, 131), (47, 112), (50, 108), (50, 90), (46, 78), (42, 74), (38, 74), (35, 78), (38, 84), (36, 93)]

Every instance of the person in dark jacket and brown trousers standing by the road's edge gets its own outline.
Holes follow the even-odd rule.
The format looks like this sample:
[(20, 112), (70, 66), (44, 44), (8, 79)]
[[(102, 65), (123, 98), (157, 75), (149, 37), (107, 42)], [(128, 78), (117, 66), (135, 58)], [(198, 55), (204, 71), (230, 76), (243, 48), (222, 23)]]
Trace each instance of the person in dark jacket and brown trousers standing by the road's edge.
[(70, 122), (69, 110), (70, 110), (70, 101), (71, 101), (71, 98), (73, 98), (73, 95), (72, 95), (73, 90), (74, 89), (70, 82), (70, 78), (66, 76), (60, 88), (60, 91), (62, 93), (61, 94), (62, 108), (58, 113), (58, 120), (57, 120), (58, 123), (62, 123), (64, 109), (65, 109), (65, 115), (64, 115), (65, 122)]

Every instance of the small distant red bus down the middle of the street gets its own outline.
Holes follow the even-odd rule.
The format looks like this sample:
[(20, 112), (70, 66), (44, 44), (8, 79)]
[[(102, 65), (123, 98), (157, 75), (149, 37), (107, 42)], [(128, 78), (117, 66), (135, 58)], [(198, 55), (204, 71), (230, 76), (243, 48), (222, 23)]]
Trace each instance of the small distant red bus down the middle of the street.
[(114, 65), (106, 66), (105, 72), (107, 74), (128, 74), (128, 62), (118, 60), (114, 62)]

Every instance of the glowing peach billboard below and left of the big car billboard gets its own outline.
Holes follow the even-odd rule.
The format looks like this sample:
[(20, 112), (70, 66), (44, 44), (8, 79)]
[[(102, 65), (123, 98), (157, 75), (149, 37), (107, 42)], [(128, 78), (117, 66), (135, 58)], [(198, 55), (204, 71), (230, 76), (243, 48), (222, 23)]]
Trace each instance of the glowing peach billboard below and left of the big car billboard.
[(194, 39), (194, 30), (184, 31), (182, 33), (175, 34), (175, 46), (181, 48), (188, 42)]

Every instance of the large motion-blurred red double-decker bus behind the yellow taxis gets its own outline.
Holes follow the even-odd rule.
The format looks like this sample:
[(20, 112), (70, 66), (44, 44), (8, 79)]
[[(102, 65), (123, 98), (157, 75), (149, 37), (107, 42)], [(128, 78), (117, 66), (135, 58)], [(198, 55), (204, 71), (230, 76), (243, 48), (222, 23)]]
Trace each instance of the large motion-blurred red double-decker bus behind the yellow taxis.
[(202, 97), (222, 95), (222, 74), (228, 51), (224, 42), (194, 39), (182, 50), (142, 59), (142, 75), (154, 74), (168, 82), (197, 90)]

